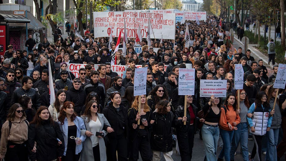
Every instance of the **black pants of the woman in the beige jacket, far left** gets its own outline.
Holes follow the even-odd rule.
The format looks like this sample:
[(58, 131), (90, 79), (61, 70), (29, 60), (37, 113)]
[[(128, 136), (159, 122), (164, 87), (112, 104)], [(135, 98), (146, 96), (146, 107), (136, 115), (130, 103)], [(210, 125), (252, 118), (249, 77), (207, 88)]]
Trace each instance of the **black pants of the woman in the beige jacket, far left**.
[(28, 147), (25, 143), (16, 144), (8, 142), (5, 161), (28, 161), (28, 154)]

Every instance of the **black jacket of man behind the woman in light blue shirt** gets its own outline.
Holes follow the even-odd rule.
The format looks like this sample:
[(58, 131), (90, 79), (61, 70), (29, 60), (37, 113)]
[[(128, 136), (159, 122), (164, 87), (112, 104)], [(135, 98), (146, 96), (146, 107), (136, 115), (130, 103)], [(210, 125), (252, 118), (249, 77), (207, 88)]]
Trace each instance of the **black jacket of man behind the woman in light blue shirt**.
[(86, 93), (83, 90), (82, 87), (80, 89), (76, 90), (72, 86), (69, 91), (66, 93), (67, 95), (67, 101), (71, 101), (74, 103), (74, 111), (76, 111), (77, 115), (80, 115), (80, 111), (85, 103)]

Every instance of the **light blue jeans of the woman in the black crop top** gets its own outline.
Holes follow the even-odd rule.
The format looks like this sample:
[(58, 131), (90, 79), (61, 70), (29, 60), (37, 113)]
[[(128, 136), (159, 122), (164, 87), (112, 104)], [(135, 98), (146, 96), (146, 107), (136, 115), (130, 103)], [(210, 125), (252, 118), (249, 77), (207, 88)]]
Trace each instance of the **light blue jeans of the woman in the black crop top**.
[(217, 161), (217, 142), (219, 138), (219, 128), (202, 126), (202, 140), (206, 151), (206, 161)]

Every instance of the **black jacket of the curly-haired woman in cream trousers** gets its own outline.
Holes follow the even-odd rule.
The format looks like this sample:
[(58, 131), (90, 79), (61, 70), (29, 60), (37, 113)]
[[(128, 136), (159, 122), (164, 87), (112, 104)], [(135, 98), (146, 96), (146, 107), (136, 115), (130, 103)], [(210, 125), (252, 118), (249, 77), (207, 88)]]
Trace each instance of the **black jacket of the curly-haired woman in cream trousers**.
[(154, 112), (153, 131), (151, 133), (151, 149), (155, 151), (172, 151), (172, 128), (174, 127), (174, 115), (170, 111), (167, 115)]

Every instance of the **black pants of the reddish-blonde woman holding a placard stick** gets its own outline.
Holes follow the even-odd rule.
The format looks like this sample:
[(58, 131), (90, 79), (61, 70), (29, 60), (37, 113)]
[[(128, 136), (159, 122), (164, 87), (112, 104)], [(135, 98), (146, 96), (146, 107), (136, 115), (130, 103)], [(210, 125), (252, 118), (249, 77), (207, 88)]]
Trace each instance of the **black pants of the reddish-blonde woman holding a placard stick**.
[(131, 142), (129, 161), (137, 161), (139, 151), (143, 161), (152, 161), (150, 140), (146, 129), (139, 129), (139, 135)]

